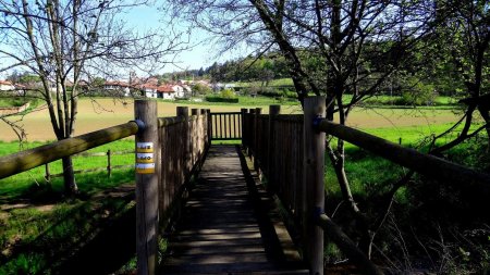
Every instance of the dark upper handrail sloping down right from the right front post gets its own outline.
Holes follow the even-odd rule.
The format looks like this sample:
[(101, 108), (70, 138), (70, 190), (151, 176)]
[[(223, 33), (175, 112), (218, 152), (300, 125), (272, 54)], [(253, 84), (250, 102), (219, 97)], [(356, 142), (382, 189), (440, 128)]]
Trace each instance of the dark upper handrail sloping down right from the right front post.
[(371, 151), (387, 160), (408, 167), (433, 179), (457, 182), (478, 187), (478, 191), (490, 193), (490, 176), (431, 154), (405, 148), (389, 140), (369, 135), (358, 129), (318, 120), (317, 129)]

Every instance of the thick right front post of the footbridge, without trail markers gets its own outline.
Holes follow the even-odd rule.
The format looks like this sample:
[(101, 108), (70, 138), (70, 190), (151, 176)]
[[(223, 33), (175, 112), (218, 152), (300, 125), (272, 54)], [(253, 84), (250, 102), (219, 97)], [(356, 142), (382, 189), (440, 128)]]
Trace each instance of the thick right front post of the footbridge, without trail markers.
[(305, 255), (310, 274), (323, 274), (323, 230), (317, 220), (324, 208), (324, 133), (314, 128), (314, 121), (324, 117), (326, 98), (310, 97), (304, 105), (303, 225)]

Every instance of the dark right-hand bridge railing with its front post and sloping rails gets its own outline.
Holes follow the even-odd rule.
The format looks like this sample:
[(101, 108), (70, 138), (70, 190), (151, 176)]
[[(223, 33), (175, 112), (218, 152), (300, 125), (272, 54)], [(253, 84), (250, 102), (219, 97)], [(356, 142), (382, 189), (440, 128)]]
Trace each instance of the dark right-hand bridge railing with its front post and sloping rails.
[(304, 115), (281, 115), (278, 105), (270, 107), (269, 115), (260, 109), (242, 110), (242, 143), (301, 233), (310, 274), (323, 274), (323, 230), (366, 274), (382, 274), (324, 214), (326, 134), (433, 179), (465, 184), (468, 191), (490, 195), (489, 175), (329, 122), (323, 118), (324, 102), (323, 97), (307, 98)]

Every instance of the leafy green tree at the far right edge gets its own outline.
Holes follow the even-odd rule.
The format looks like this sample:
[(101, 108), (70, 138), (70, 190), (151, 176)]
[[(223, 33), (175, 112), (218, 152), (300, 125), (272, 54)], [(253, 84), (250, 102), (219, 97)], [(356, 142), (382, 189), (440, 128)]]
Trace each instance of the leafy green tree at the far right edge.
[[(437, 4), (443, 24), (436, 34), (443, 47), (438, 48), (440, 54), (436, 60), (438, 65), (445, 67), (442, 73), (457, 75), (452, 80), (464, 87), (455, 96), (463, 98), (460, 102), (465, 104), (465, 111), (454, 126), (436, 137), (441, 138), (463, 124), (457, 138), (433, 148), (432, 152), (441, 154), (483, 129), (490, 149), (490, 3), (483, 0), (445, 0), (437, 1)], [(483, 126), (471, 130), (478, 114)]]

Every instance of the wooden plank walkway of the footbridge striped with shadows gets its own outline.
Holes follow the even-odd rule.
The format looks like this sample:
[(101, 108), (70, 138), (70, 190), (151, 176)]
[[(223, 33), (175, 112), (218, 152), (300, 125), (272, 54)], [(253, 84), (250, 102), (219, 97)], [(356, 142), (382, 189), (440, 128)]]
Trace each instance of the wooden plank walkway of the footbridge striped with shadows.
[(236, 148), (212, 146), (161, 274), (308, 274), (296, 251), (283, 250), (284, 230), (267, 221), (270, 198), (249, 188)]

